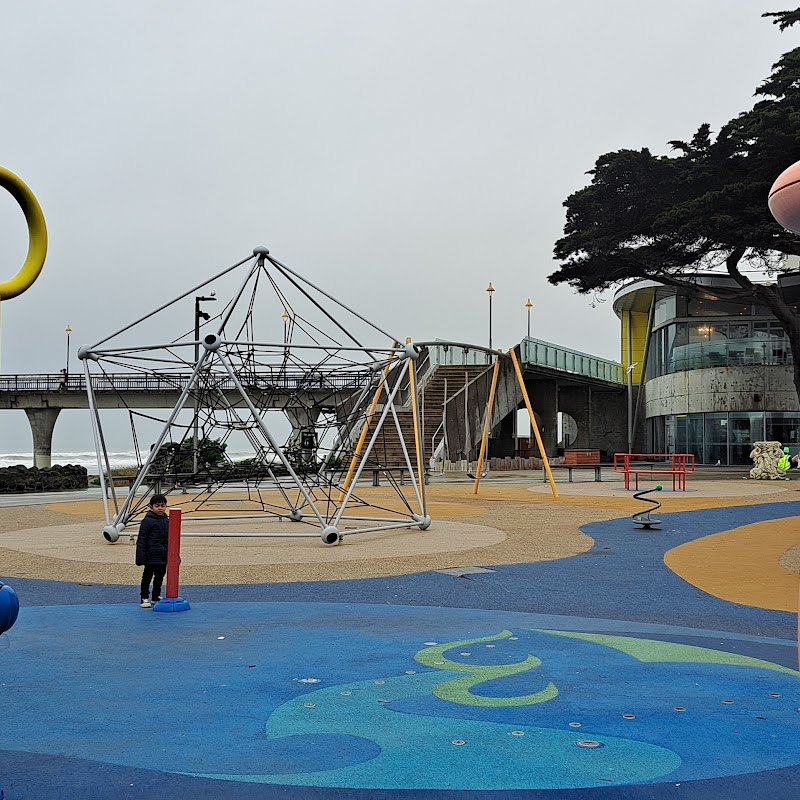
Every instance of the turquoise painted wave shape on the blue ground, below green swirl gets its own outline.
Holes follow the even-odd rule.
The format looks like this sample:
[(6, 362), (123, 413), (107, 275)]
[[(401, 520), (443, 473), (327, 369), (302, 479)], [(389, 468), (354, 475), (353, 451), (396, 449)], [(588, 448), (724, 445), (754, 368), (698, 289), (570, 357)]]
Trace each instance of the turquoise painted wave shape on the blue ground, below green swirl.
[(639, 782), (681, 763), (671, 750), (630, 739), (608, 736), (601, 747), (579, 747), (586, 737), (569, 730), (392, 709), (398, 700), (429, 696), (441, 681), (440, 672), (426, 672), (380, 685), (342, 684), (292, 700), (270, 716), (271, 745), (310, 754), (308, 737), (324, 731), (326, 749), (350, 762), (338, 769), (202, 777), (353, 789), (561, 789)]

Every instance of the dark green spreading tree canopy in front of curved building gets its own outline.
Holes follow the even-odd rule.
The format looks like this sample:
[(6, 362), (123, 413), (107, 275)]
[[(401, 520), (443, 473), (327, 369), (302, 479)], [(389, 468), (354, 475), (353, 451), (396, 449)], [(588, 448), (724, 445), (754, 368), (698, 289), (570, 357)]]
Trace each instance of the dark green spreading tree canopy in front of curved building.
[[(783, 30), (800, 22), (800, 8), (764, 16)], [(780, 58), (755, 94), (753, 108), (716, 136), (704, 123), (691, 139), (670, 141), (670, 155), (643, 148), (600, 156), (591, 183), (564, 203), (564, 236), (554, 250), (560, 266), (548, 280), (579, 293), (636, 278), (691, 287), (688, 273), (724, 266), (740, 294), (795, 329), (797, 363), (800, 319), (740, 265), (780, 270), (781, 254), (800, 255), (800, 237), (767, 208), (775, 178), (800, 160), (800, 48)]]

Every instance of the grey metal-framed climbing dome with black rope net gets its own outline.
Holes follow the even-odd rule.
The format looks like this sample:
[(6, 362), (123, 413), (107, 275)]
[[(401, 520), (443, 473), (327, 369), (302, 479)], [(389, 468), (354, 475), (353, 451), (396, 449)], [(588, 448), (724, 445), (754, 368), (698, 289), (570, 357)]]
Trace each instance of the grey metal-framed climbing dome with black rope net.
[[(186, 330), (179, 321), (192, 320), (192, 303)], [(159, 492), (183, 509), (190, 536), (336, 544), (348, 534), (426, 529), (420, 352), (264, 247), (81, 347), (105, 539), (132, 533)], [(127, 490), (115, 486), (105, 444), (111, 406), (127, 414), (138, 463)], [(279, 433), (289, 427), (288, 437)], [(231, 458), (234, 440), (247, 457)], [(243, 521), (247, 532), (232, 524)]]

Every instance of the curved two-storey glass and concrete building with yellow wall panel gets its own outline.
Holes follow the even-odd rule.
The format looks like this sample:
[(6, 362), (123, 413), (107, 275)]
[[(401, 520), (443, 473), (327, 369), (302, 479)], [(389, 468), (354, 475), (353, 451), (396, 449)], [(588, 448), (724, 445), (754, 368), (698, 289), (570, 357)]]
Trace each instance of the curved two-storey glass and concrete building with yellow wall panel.
[[(652, 453), (693, 453), (702, 464), (749, 464), (754, 441), (800, 451), (800, 403), (786, 334), (769, 309), (720, 300), (728, 277), (698, 273), (700, 291), (636, 281), (614, 296), (622, 362), (643, 393)], [(784, 299), (800, 306), (800, 277), (782, 276)], [(641, 419), (641, 417), (640, 417)], [(639, 426), (637, 425), (637, 428)]]

